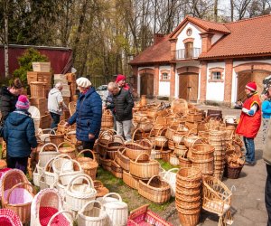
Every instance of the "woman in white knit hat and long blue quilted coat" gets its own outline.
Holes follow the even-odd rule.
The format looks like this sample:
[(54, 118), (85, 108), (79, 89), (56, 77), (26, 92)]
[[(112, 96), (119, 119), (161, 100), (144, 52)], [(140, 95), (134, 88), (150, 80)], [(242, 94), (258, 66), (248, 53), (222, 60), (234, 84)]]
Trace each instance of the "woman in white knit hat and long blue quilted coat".
[(90, 80), (81, 77), (76, 83), (80, 92), (76, 111), (65, 126), (76, 122), (76, 138), (82, 141), (84, 149), (93, 149), (101, 127), (102, 101)]

